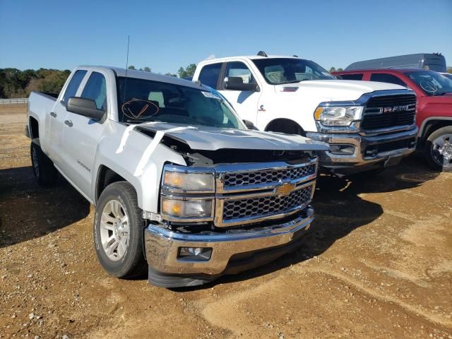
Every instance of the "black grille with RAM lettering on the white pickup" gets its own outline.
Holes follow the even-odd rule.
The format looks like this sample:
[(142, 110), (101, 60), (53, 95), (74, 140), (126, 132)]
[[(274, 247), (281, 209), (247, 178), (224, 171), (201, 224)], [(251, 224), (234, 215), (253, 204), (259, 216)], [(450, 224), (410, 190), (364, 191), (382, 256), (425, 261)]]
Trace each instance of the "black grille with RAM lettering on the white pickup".
[(415, 123), (416, 96), (386, 95), (371, 97), (364, 107), (361, 127), (364, 131), (388, 129)]

